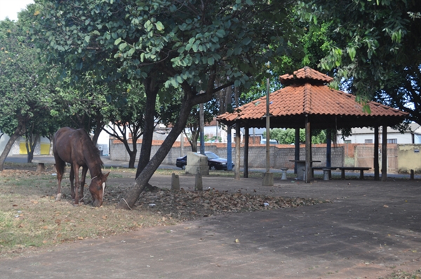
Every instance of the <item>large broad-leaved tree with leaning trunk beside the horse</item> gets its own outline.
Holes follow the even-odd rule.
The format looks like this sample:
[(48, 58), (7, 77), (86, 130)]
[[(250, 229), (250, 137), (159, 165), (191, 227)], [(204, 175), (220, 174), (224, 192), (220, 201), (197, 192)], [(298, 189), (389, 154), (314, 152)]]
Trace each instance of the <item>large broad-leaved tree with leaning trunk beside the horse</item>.
[[(36, 1), (41, 5), (34, 13), (37, 42), (49, 61), (61, 62), (72, 76), (91, 70), (101, 79), (138, 79), (145, 86), (147, 109), (154, 108), (163, 84), (183, 92), (178, 121), (119, 207), (135, 204), (194, 105), (208, 102), (222, 88), (249, 86), (250, 77), (288, 47), (272, 49), (269, 43), (295, 34), (285, 16), (289, 1), (196, 2)], [(151, 124), (153, 118), (145, 121)]]

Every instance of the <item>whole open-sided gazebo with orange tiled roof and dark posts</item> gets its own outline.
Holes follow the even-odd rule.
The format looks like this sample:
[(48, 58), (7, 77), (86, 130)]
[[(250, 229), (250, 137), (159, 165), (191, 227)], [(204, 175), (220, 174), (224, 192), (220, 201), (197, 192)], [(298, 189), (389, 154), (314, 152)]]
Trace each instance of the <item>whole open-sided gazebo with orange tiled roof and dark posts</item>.
[[(375, 130), (374, 168), (375, 179), (379, 179), (378, 133), (382, 126), (382, 180), (386, 179), (387, 126), (401, 123), (406, 112), (392, 107), (368, 102), (366, 106), (356, 102), (356, 97), (326, 86), (333, 78), (310, 67), (304, 67), (293, 74), (279, 77), (284, 88), (269, 94), (270, 128), (305, 128), (305, 181), (312, 173), (311, 130), (373, 127)], [(246, 128), (244, 168), (248, 163), (248, 128), (265, 128), (267, 114), (266, 96), (236, 108), (232, 113), (218, 116), (218, 121), (236, 128)], [(239, 132), (236, 132), (239, 137)], [(330, 144), (328, 142), (328, 149)], [(295, 159), (298, 160), (300, 146), (295, 144)], [(239, 151), (239, 149), (238, 149)], [(299, 156), (299, 155), (298, 155)]]

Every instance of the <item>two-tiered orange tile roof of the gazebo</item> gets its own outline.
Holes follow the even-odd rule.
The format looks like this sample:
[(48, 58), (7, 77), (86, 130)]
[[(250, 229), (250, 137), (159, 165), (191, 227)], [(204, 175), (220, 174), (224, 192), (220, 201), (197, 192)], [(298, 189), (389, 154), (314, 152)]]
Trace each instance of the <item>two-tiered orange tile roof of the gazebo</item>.
[[(368, 114), (363, 111), (363, 105), (355, 101), (354, 95), (323, 85), (333, 79), (309, 67), (293, 75), (280, 76), (280, 79), (292, 84), (269, 95), (271, 127), (303, 127), (305, 115), (309, 115), (314, 128), (370, 127), (385, 121), (388, 125), (396, 125), (407, 116), (406, 112), (377, 102), (368, 102)], [(231, 114), (222, 114), (218, 120), (228, 125), (241, 120), (249, 127), (265, 127), (265, 115), (266, 96), (244, 104)]]

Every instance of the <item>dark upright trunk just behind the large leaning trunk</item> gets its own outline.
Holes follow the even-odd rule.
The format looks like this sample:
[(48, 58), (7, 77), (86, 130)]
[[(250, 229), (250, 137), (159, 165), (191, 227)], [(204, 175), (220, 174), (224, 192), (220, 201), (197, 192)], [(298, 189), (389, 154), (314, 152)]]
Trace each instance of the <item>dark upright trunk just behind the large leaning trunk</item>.
[(152, 140), (154, 140), (154, 114), (156, 95), (158, 95), (159, 86), (153, 78), (148, 78), (145, 81), (146, 91), (146, 110), (145, 110), (145, 127), (143, 128), (142, 147), (140, 148), (140, 157), (138, 170), (136, 171), (136, 178), (140, 175), (142, 170), (146, 167), (151, 158)]

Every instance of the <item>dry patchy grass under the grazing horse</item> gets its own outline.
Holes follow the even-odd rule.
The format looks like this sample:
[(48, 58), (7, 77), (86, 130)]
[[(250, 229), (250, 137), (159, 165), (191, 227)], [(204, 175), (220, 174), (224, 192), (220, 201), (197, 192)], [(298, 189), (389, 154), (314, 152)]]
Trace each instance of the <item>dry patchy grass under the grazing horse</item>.
[[(114, 177), (123, 177), (116, 172)], [(56, 177), (51, 172), (5, 170), (0, 177), (0, 257), (11, 257), (31, 247), (48, 247), (86, 238), (125, 233), (143, 226), (175, 224), (140, 210), (116, 210), (115, 203), (100, 208), (74, 207), (69, 198), (68, 173), (55, 201)], [(112, 187), (112, 186), (110, 186)], [(111, 188), (112, 189), (112, 188)]]

